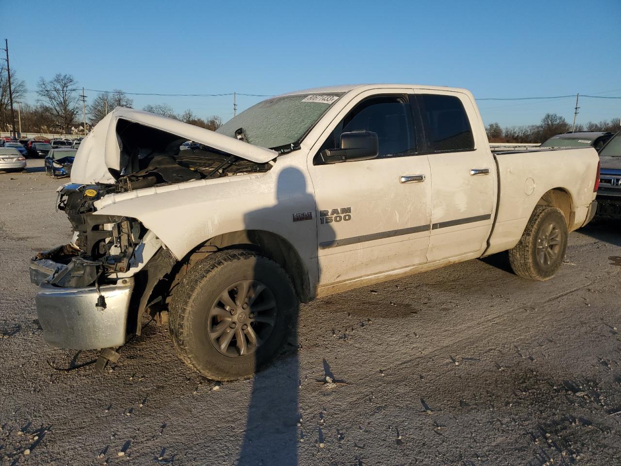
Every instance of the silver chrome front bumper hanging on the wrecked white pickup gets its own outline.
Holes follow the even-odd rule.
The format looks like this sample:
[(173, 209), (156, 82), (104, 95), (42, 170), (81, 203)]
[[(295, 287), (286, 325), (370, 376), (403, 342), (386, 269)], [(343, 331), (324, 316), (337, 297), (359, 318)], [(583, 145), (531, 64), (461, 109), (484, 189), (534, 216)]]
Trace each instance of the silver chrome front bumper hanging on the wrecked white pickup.
[(124, 278), (115, 285), (102, 285), (106, 308), (96, 308), (99, 293), (94, 286), (60, 288), (43, 283), (37, 293), (37, 314), (43, 339), (67, 349), (118, 347), (127, 339), (127, 314), (134, 279)]

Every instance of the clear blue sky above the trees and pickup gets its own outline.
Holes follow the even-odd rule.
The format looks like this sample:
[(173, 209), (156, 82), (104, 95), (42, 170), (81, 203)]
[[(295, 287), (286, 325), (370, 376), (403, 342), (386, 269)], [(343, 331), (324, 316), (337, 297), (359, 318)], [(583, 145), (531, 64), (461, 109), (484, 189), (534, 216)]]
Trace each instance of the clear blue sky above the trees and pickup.
[[(21, 18), (3, 21), (1, 38), (30, 91), (40, 76), (61, 72), (88, 89), (137, 93), (271, 95), (401, 82), (465, 87), (476, 98), (621, 96), (621, 0), (0, 4)], [(168, 103), (232, 117), (228, 96), (132, 97), (137, 108)], [(239, 97), (238, 107), (258, 100)], [(548, 111), (571, 121), (574, 98), (479, 106), (486, 124), (535, 123)], [(580, 106), (578, 122), (621, 117), (621, 99)]]

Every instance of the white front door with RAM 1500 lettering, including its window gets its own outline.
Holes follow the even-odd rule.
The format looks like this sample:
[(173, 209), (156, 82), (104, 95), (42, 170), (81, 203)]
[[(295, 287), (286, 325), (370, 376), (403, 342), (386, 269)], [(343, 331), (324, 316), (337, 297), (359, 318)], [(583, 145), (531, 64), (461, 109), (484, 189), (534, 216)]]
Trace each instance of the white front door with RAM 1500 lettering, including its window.
[(378, 134), (379, 155), (327, 165), (317, 155), (309, 160), (320, 285), (362, 280), (427, 261), (430, 166), (427, 155), (417, 149), (407, 90), (368, 98), (362, 94), (343, 114), (314, 153), (340, 147), (343, 132), (366, 130)]

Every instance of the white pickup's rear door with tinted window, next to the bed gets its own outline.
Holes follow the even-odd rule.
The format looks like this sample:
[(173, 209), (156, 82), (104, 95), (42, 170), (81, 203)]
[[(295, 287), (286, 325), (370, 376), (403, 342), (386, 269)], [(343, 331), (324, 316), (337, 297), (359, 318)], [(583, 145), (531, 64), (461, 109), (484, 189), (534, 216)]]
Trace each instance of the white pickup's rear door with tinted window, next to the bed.
[(483, 123), (467, 94), (424, 89), (415, 94), (433, 181), (427, 260), (475, 257), (486, 248), (497, 190)]

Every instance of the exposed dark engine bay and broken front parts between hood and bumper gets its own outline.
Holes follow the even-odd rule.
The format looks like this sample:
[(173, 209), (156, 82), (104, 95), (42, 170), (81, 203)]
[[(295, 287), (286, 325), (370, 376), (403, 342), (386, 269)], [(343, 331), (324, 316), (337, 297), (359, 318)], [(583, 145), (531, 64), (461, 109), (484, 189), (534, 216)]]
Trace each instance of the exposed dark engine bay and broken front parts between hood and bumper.
[[(94, 203), (112, 193), (222, 176), (261, 173), (273, 162), (256, 163), (202, 144), (185, 147), (186, 138), (119, 119), (116, 139), (120, 170), (109, 168), (114, 183), (72, 183), (58, 191), (57, 209), (65, 211), (75, 236), (71, 244), (40, 252), (31, 274), (55, 286), (99, 286), (137, 264), (135, 250), (147, 229), (136, 219), (93, 215)], [(170, 255), (170, 253), (168, 253)], [(34, 270), (34, 271), (33, 271)]]

